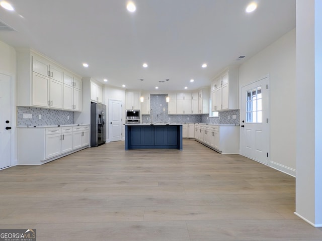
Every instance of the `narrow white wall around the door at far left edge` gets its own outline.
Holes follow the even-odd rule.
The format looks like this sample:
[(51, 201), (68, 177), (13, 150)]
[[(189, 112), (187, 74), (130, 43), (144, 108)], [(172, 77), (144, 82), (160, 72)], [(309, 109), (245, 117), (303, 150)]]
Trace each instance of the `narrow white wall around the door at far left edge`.
[(16, 50), (0, 41), (0, 73), (11, 76), (11, 166), (18, 164), (17, 160), (17, 129), (16, 129), (16, 76), (17, 76), (17, 55)]

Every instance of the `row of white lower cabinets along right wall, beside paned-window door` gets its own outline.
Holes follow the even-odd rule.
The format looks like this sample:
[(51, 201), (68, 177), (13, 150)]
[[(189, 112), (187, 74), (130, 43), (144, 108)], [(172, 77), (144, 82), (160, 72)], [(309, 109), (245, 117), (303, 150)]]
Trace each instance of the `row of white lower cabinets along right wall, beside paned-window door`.
[(239, 153), (239, 126), (195, 124), (195, 139), (222, 154)]

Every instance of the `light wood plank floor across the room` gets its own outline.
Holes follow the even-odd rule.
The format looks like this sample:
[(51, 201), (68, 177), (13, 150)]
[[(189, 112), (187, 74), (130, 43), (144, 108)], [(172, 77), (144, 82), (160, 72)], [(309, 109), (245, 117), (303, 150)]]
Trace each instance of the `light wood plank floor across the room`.
[(322, 240), (295, 214), (295, 178), (194, 140), (184, 150), (107, 143), (0, 171), (0, 228), (37, 240)]

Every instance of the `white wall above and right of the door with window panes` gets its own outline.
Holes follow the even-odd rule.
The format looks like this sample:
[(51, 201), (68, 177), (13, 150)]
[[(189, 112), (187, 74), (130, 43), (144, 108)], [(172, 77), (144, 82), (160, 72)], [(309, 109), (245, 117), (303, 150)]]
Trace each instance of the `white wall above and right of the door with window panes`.
[(296, 151), (295, 57), (294, 29), (239, 67), (240, 88), (269, 74), (269, 165), (293, 176), (295, 176)]

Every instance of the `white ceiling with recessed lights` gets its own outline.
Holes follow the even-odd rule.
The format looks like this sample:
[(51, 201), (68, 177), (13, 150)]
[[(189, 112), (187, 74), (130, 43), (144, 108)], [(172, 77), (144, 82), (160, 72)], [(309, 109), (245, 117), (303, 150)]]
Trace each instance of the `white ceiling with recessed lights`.
[(160, 93), (210, 85), (223, 68), (295, 28), (295, 0), (257, 0), (251, 14), (250, 0), (134, 0), (134, 13), (127, 0), (7, 2), (15, 12), (0, 7), (0, 21), (17, 32), (0, 32), (1, 41), (108, 85), (141, 89), (142, 78), (143, 90)]

